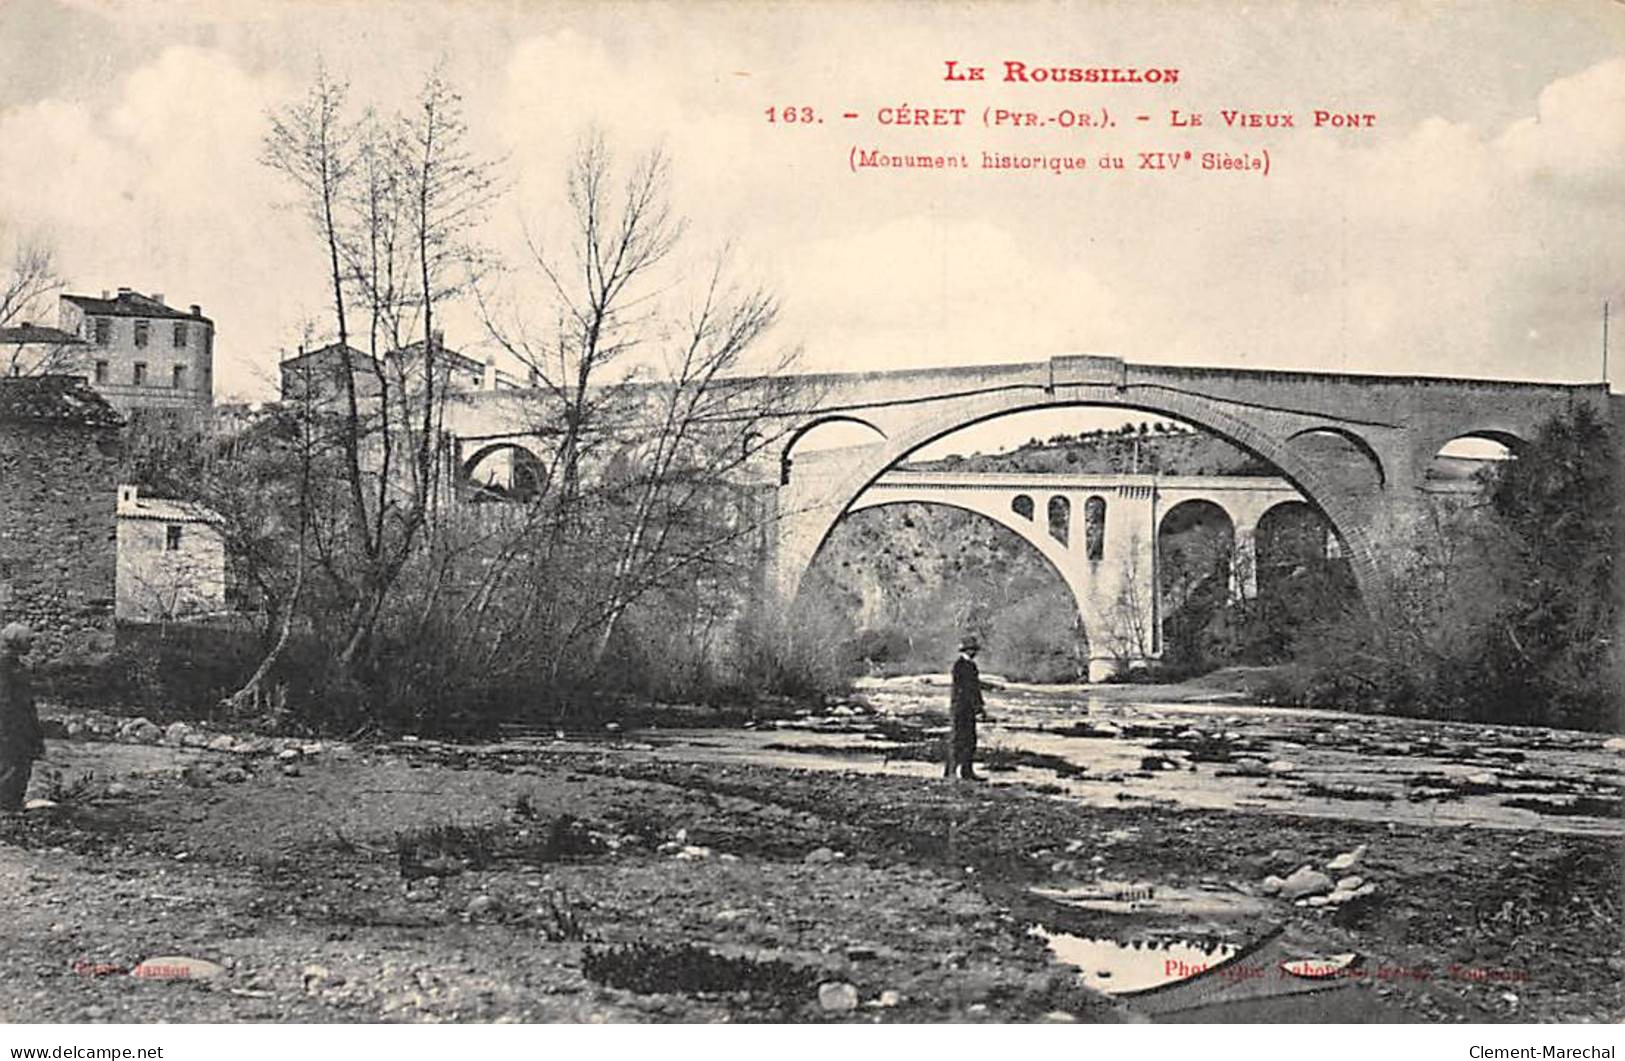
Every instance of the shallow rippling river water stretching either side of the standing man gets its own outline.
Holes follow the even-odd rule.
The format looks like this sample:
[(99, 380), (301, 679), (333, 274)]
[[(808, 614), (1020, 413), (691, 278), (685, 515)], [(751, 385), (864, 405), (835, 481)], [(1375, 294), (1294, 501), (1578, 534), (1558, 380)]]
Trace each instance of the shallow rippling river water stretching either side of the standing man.
[[(644, 754), (939, 777), (944, 676), (860, 682), (829, 713), (741, 730), (640, 733)], [(1594, 733), (1446, 723), (1133, 687), (1006, 684), (988, 694), (982, 767), (1087, 806), (1165, 804), (1440, 827), (1620, 835), (1625, 756)]]

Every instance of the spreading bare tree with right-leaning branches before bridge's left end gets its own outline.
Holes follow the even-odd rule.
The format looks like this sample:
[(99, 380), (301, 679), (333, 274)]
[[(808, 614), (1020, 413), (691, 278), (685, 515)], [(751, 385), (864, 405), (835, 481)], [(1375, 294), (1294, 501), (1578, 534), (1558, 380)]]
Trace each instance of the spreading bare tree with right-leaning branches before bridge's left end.
[(567, 175), (569, 250), (531, 244), (548, 323), (497, 320), (486, 304), (492, 335), (538, 385), (535, 434), (552, 457), (533, 528), (548, 591), (526, 609), (552, 678), (570, 660), (600, 666), (639, 603), (741, 562), (762, 533), (752, 471), (798, 400), (795, 351), (756, 359), (777, 301), (730, 281), (726, 250), (697, 286), (678, 279), (686, 223), (666, 159), (614, 174), (604, 140), (583, 138)]

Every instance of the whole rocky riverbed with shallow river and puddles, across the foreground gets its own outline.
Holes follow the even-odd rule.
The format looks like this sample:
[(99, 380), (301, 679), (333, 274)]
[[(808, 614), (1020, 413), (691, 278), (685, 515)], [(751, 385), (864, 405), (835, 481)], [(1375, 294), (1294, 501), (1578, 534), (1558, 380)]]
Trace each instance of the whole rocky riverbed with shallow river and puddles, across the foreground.
[[(1601, 738), (1017, 689), (975, 785), (931, 777), (938, 692), (486, 744), (58, 715), (44, 803), (0, 821), (0, 1019), (1622, 1016)], [(1596, 803), (1401, 812), (1484, 819), (1523, 783)]]

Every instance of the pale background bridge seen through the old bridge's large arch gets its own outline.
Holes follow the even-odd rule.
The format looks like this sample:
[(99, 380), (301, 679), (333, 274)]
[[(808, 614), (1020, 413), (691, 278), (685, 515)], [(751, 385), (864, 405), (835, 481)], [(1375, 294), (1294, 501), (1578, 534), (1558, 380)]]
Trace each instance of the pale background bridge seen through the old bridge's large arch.
[[(808, 461), (812, 465), (821, 460)], [(887, 471), (847, 512), (895, 504), (947, 505), (1014, 531), (1066, 583), (1089, 635), (1090, 679), (1162, 652), (1160, 531), (1181, 505), (1212, 505), (1233, 543), (1232, 596), (1258, 585), (1254, 538), (1280, 505), (1305, 505), (1266, 476)]]

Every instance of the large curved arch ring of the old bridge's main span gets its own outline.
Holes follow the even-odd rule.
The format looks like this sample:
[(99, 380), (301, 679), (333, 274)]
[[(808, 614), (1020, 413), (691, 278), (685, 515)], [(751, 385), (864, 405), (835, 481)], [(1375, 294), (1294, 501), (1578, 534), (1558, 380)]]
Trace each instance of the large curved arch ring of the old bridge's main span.
[[(894, 427), (884, 445), (863, 458), (840, 478), (830, 491), (837, 502), (812, 515), (814, 525), (803, 530), (811, 548), (796, 557), (798, 570), (785, 572), (782, 583), (791, 593), (806, 574), (811, 557), (822, 548), (830, 530), (852, 504), (874, 484), (889, 468), (944, 435), (999, 416), (1055, 408), (1123, 408), (1141, 413), (1170, 416), (1204, 431), (1269, 461), (1282, 478), (1292, 483), (1336, 530), (1349, 551), (1349, 565), (1362, 600), (1372, 601), (1378, 585), (1376, 551), (1367, 526), (1365, 499), (1339, 491), (1310, 460), (1295, 452), (1285, 437), (1248, 422), (1240, 414), (1224, 408), (1220, 401), (1188, 392), (1157, 388), (1152, 392), (1110, 390), (1087, 396), (1055, 395), (1032, 390), (1011, 390), (980, 395), (972, 400), (944, 403), (946, 408), (920, 416)], [(804, 557), (804, 559), (803, 559)]]

